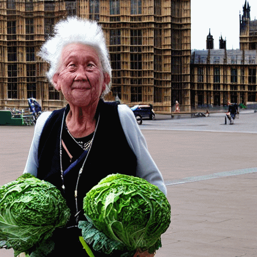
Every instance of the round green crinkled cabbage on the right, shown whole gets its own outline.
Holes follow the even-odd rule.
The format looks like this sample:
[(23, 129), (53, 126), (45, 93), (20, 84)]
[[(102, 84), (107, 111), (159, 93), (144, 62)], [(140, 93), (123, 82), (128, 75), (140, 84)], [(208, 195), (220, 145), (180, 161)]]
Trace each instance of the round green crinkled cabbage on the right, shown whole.
[(112, 174), (84, 197), (85, 216), (111, 239), (129, 249), (150, 249), (171, 222), (162, 191), (144, 179)]

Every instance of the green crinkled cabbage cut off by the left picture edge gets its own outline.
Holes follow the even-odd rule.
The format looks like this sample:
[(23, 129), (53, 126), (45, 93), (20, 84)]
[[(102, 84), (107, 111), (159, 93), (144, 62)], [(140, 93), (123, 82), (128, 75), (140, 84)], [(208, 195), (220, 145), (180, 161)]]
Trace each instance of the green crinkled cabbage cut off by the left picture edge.
[(17, 256), (40, 246), (69, 217), (66, 201), (55, 186), (24, 174), (0, 187), (0, 248), (13, 248)]

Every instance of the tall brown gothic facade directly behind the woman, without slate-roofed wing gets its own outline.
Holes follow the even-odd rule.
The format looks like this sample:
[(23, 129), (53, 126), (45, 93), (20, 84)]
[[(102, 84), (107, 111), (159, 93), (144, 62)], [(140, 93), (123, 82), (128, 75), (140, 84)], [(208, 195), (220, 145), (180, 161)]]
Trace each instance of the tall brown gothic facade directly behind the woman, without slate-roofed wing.
[(110, 53), (112, 91), (126, 104), (190, 110), (190, 0), (0, 0), (0, 108), (66, 104), (45, 77), (37, 52), (60, 19), (76, 15), (102, 25)]

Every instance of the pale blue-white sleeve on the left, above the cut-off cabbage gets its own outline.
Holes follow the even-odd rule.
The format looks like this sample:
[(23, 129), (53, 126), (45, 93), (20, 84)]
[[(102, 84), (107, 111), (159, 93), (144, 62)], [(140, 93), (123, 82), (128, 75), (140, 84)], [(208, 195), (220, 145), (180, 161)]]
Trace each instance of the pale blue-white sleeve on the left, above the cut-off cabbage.
[(29, 152), (27, 163), (23, 173), (30, 173), (35, 177), (37, 177), (37, 171), (38, 171), (38, 165), (39, 165), (38, 164), (39, 139), (43, 131), (45, 122), (51, 113), (52, 113), (51, 111), (42, 112), (42, 114), (40, 114), (40, 116), (37, 119), (35, 130), (34, 130), (34, 136), (30, 147), (30, 152)]

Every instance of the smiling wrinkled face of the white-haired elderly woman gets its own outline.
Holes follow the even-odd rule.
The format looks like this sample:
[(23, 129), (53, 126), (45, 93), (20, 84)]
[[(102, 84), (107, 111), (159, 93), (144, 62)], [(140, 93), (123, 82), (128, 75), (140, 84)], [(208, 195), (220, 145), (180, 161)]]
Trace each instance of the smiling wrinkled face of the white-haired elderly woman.
[(70, 104), (85, 107), (98, 103), (109, 77), (103, 74), (96, 50), (77, 43), (63, 48), (61, 67), (53, 81)]

